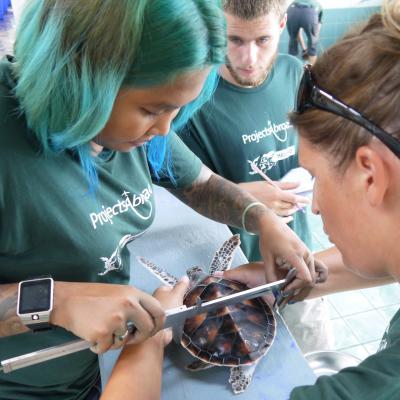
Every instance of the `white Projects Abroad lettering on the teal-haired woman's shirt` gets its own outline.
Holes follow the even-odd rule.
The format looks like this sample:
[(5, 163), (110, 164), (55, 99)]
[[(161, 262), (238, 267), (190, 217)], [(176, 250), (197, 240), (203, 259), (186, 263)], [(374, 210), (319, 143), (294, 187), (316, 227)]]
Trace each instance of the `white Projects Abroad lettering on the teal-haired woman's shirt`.
[[(142, 220), (149, 219), (153, 213), (153, 205), (150, 200), (152, 194), (153, 189), (150, 185), (146, 189), (143, 189), (139, 194), (133, 193), (131, 195), (130, 192), (123, 192), (121, 195), (123, 200), (118, 200), (117, 203), (109, 207), (103, 205), (101, 207), (102, 211), (98, 213), (91, 213), (89, 215), (93, 229), (97, 229), (99, 226), (103, 226), (105, 224), (113, 225), (114, 217), (128, 211), (133, 211)], [(149, 211), (146, 213), (147, 215), (144, 215), (139, 212), (138, 208), (146, 203), (149, 204)]]

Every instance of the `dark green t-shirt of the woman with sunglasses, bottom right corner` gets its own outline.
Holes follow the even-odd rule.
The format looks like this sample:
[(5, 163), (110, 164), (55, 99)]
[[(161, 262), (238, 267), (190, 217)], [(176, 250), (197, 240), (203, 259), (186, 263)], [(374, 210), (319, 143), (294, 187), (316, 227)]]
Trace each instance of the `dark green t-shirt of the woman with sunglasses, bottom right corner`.
[(400, 399), (400, 310), (390, 322), (376, 354), (357, 367), (320, 377), (312, 386), (298, 387), (290, 396), (290, 400), (325, 399)]

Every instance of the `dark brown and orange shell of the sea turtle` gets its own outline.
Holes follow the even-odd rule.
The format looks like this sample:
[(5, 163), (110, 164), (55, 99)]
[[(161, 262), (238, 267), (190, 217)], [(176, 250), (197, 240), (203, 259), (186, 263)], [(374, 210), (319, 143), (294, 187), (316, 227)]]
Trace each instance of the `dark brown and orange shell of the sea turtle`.
[[(184, 298), (186, 306), (210, 301), (248, 287), (240, 282), (208, 276)], [(244, 300), (185, 321), (181, 344), (193, 356), (216, 365), (249, 365), (271, 346), (276, 321), (271, 307), (262, 299)]]

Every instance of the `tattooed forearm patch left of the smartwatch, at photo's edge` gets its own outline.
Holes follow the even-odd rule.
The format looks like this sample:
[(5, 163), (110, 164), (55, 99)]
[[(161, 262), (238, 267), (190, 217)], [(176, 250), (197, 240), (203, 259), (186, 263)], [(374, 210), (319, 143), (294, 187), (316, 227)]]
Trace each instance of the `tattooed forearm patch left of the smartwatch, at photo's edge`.
[(17, 291), (15, 284), (0, 286), (0, 337), (28, 331), (16, 315)]

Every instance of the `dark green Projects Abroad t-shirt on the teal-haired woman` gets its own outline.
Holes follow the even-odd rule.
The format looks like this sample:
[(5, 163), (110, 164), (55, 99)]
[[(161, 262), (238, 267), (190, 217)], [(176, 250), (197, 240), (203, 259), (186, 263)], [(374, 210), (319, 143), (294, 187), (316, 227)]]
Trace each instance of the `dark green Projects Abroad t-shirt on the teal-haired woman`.
[[(126, 245), (154, 219), (154, 198), (144, 147), (111, 152), (99, 166), (100, 186), (87, 181), (72, 153), (42, 156), (18, 116), (10, 61), (0, 63), (0, 282), (51, 275), (55, 280), (127, 284)], [(198, 176), (200, 160), (175, 133), (169, 135), (178, 187)], [(168, 179), (160, 182), (172, 186)], [(134, 252), (134, 243), (132, 245)], [(61, 328), (0, 338), (0, 359), (76, 337)], [(10, 374), (0, 373), (0, 399), (83, 399), (99, 373), (87, 351)]]

